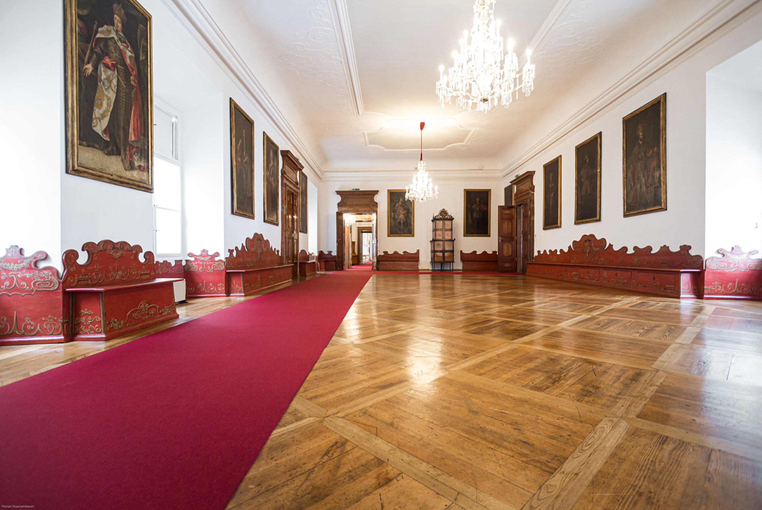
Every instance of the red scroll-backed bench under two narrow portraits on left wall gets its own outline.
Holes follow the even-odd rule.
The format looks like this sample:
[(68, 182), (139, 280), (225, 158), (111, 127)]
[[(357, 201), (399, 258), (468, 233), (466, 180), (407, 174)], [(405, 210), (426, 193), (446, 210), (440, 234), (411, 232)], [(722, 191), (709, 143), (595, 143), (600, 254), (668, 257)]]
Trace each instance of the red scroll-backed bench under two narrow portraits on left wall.
[(247, 237), (225, 259), (228, 295), (250, 295), (262, 288), (291, 281), (292, 266), (280, 265), (280, 253), (262, 234)]

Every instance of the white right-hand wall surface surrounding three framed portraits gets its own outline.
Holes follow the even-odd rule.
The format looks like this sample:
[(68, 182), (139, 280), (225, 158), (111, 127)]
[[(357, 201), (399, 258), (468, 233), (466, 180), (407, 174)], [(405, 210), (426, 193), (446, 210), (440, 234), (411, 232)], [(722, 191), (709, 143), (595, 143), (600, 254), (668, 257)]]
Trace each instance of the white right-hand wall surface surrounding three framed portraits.
[[(535, 249), (565, 249), (583, 234), (595, 234), (619, 248), (677, 250), (690, 244), (691, 253), (705, 255), (704, 201), (706, 186), (706, 72), (760, 40), (762, 16), (757, 15), (677, 65), (659, 78), (636, 85), (588, 122), (563, 135), (529, 161), (508, 171), (535, 174)], [(623, 217), (622, 119), (648, 101), (667, 93), (667, 210)], [(600, 222), (574, 225), (575, 145), (603, 132)], [(536, 142), (534, 140), (533, 142)], [(532, 143), (533, 143), (532, 142)], [(527, 145), (527, 148), (531, 144)], [(526, 150), (523, 149), (523, 150)], [(517, 148), (520, 153), (522, 150)], [(543, 164), (562, 155), (561, 228), (543, 231)]]

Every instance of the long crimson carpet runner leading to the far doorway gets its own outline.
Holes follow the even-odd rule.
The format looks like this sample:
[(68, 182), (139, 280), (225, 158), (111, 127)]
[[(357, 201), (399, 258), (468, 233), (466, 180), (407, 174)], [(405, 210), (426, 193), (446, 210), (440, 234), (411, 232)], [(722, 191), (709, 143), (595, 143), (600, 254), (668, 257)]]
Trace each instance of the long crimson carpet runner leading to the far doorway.
[(329, 273), (0, 387), (0, 503), (225, 508), (372, 275)]

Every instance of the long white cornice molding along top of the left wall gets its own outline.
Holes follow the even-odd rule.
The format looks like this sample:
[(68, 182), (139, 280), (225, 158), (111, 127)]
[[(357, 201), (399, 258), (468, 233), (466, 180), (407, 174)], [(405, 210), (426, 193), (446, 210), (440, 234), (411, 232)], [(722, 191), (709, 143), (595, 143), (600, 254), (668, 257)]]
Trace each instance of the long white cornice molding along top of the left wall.
[(260, 113), (271, 120), (276, 129), (280, 130), (280, 134), (299, 155), (307, 160), (306, 164), (312, 172), (319, 180), (322, 180), (325, 175), (322, 166), (199, 0), (162, 0), (162, 2), (191, 33), (191, 37), (197, 40), (213, 61), (219, 65), (220, 69), (238, 85), (243, 93), (251, 97), (254, 104), (259, 107)]

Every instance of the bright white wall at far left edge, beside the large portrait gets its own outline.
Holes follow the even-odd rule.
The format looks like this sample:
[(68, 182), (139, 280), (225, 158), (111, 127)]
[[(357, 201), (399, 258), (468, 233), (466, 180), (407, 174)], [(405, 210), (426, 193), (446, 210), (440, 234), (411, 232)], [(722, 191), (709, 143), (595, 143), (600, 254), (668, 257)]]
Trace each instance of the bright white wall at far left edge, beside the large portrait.
[(44, 250), (50, 260), (41, 265), (60, 269), (63, 2), (34, 7), (34, 37), (30, 24), (18, 22), (29, 18), (27, 2), (3, 2), (0, 9), (0, 248)]

